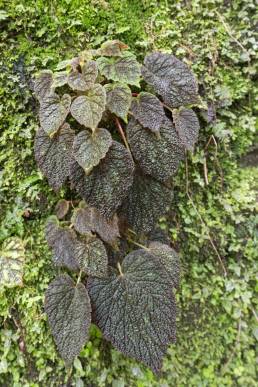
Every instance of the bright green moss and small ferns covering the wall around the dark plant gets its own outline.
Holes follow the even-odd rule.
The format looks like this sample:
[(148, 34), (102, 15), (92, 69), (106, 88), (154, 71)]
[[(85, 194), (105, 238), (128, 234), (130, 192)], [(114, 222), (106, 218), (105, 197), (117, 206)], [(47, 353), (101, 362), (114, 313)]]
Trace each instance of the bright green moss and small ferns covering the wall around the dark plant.
[(154, 49), (186, 59), (210, 123), (200, 112), (196, 152), (181, 165), (171, 214), (161, 222), (183, 265), (178, 340), (161, 378), (113, 350), (93, 327), (72, 385), (257, 385), (256, 5), (0, 0), (0, 243), (14, 235), (26, 242), (24, 286), (0, 294), (1, 387), (61, 386), (66, 378), (43, 314), (54, 277), (43, 230), (58, 197), (34, 162), (31, 77), (107, 38), (126, 42), (139, 59)]

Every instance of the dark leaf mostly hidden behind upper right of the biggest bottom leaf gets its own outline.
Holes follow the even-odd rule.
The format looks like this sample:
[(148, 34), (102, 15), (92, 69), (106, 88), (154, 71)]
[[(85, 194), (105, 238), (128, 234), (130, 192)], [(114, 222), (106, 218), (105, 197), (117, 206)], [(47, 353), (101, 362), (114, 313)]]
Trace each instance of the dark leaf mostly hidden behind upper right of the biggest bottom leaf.
[(170, 276), (173, 286), (178, 288), (180, 281), (180, 259), (177, 252), (172, 247), (160, 242), (151, 242), (149, 250), (162, 263)]

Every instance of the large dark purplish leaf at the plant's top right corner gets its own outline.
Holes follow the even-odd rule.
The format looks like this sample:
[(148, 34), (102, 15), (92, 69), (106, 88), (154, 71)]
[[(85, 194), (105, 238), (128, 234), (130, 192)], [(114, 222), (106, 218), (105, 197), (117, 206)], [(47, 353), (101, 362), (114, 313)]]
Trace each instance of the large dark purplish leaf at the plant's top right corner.
[(157, 51), (147, 55), (142, 76), (171, 107), (200, 102), (194, 74), (185, 63), (171, 54)]

